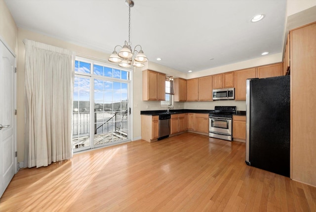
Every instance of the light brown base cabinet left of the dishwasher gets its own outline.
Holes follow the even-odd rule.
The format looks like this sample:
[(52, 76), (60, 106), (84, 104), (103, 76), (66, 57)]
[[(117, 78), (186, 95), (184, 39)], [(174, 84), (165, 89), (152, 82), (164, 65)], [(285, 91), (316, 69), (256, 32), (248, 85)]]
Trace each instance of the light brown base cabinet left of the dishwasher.
[(159, 116), (141, 115), (141, 135), (148, 142), (159, 137)]

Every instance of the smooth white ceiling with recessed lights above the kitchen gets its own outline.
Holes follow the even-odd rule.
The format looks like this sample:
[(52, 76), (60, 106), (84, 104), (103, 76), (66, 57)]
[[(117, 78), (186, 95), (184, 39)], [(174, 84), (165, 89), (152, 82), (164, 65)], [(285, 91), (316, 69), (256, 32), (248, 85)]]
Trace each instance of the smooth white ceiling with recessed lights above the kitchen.
[[(5, 0), (18, 27), (112, 53), (128, 40), (125, 0)], [(178, 71), (201, 71), (283, 49), (286, 0), (134, 0), (132, 47)], [(259, 13), (262, 21), (251, 23)], [(156, 61), (161, 57), (161, 61)], [(214, 60), (210, 60), (214, 58)]]

